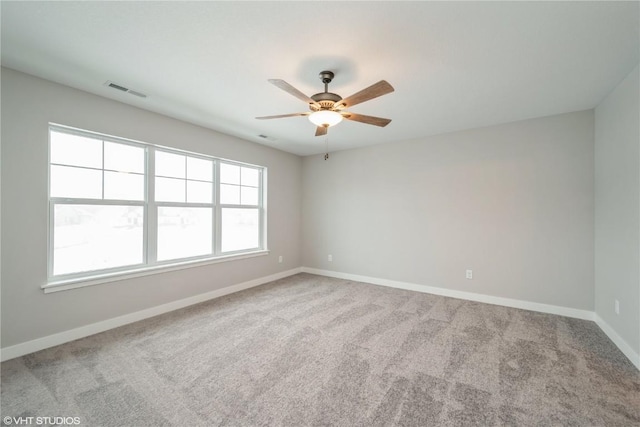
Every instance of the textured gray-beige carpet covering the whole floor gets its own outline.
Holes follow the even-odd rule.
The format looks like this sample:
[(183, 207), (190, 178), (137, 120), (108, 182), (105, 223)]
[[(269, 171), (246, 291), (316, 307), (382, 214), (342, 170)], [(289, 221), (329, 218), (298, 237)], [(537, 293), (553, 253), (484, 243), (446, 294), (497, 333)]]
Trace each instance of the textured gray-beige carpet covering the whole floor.
[(640, 425), (593, 322), (309, 274), (4, 362), (1, 399), (90, 426)]

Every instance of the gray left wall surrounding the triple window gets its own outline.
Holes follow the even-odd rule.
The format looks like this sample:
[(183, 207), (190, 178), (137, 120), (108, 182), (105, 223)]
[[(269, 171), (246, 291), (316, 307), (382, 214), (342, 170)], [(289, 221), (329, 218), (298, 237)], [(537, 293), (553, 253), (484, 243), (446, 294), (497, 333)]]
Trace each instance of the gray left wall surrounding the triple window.
[[(271, 253), (44, 294), (49, 122), (267, 166)], [(1, 158), (3, 348), (302, 264), (295, 155), (3, 68)]]

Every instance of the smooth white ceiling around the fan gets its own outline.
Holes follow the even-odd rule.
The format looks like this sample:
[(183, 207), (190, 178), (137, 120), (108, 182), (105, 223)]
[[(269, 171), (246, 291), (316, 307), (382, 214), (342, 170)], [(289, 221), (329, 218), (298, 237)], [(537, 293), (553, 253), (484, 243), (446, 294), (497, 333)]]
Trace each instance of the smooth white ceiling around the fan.
[(2, 65), (308, 155), (325, 138), (306, 118), (254, 118), (307, 109), (267, 79), (395, 87), (352, 108), (391, 124), (344, 121), (331, 150), (589, 109), (639, 61), (638, 4), (2, 1)]

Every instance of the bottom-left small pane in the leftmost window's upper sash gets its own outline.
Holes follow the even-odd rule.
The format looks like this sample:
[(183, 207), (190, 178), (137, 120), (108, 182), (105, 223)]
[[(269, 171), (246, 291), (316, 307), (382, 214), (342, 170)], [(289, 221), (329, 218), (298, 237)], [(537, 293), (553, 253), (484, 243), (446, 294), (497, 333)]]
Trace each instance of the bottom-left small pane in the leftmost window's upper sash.
[(102, 199), (102, 171), (51, 165), (51, 197)]

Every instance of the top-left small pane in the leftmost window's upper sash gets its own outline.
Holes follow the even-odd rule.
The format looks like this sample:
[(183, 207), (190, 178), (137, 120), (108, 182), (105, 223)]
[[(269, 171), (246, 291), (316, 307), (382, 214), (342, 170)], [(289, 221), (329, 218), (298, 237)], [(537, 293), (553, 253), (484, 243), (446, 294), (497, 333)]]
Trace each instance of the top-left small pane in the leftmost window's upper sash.
[(51, 163), (102, 168), (102, 141), (51, 131)]

